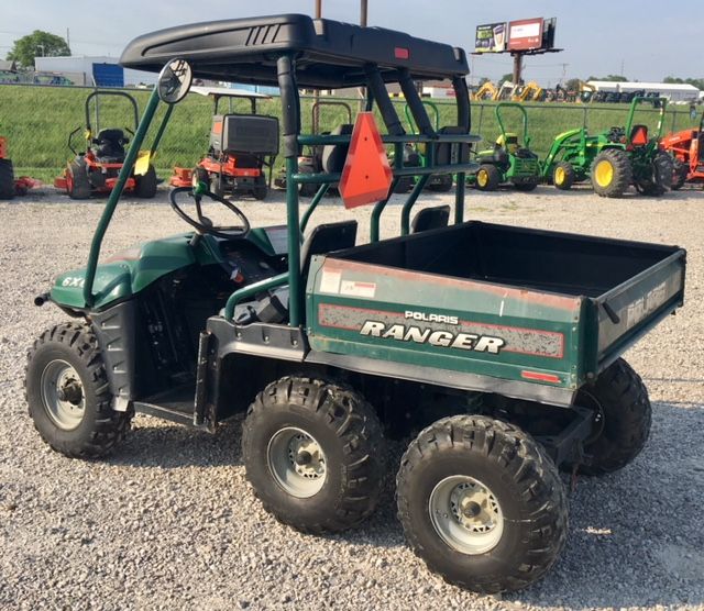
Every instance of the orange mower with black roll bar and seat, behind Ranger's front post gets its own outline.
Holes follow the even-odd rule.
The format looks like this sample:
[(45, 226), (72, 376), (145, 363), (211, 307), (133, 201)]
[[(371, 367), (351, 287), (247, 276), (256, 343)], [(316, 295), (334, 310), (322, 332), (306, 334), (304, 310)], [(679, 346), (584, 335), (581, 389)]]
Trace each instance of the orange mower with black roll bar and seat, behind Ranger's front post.
[[(134, 129), (100, 127), (100, 98), (114, 97), (127, 99), (133, 115)], [(92, 102), (92, 104), (91, 104)], [(77, 151), (74, 140), (81, 127), (76, 127), (68, 135), (68, 148), (74, 154), (64, 173), (54, 180), (54, 187), (66, 191), (72, 199), (88, 199), (94, 195), (110, 193), (118, 182), (118, 175), (124, 165), (125, 147), (134, 135), (139, 123), (136, 101), (124, 91), (94, 91), (86, 98), (86, 149)], [(95, 131), (90, 115), (95, 116)], [(152, 154), (140, 152), (134, 169), (124, 185), (124, 191), (138, 198), (153, 198), (156, 195), (157, 178), (154, 166), (150, 163)]]

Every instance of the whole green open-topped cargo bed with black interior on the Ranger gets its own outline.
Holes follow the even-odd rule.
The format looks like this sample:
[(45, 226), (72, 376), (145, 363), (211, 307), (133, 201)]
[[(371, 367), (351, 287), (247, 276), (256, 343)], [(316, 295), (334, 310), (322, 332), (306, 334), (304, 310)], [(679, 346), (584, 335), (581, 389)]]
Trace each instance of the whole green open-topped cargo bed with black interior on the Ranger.
[(358, 246), (314, 258), (310, 358), (564, 403), (544, 387), (578, 389), (681, 306), (684, 265), (675, 246), (481, 222)]

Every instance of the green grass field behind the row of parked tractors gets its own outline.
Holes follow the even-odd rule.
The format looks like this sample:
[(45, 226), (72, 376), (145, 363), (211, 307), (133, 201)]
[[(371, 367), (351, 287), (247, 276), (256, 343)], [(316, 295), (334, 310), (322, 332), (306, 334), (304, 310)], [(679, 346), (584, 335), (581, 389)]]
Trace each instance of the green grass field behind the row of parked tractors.
[[(52, 182), (72, 156), (67, 146), (68, 134), (76, 127), (85, 125), (84, 101), (89, 89), (72, 87), (28, 87), (0, 86), (0, 135), (8, 138), (9, 154), (13, 159), (16, 175), (31, 175), (45, 182)], [(132, 91), (142, 109), (148, 92)], [(336, 98), (337, 99), (337, 98)], [(129, 107), (119, 99), (103, 99), (100, 104), (100, 124), (102, 126), (127, 126), (132, 129)], [(350, 101), (355, 108), (356, 101)], [(399, 115), (404, 115), (404, 102), (397, 102)], [(492, 143), (498, 135), (492, 102), (472, 104), (472, 131)], [(222, 102), (221, 102), (222, 108)], [(227, 102), (224, 108), (227, 108)], [(249, 103), (237, 101), (234, 112), (246, 112)], [(457, 123), (455, 108), (452, 102), (438, 102), (440, 124)], [(612, 125), (626, 123), (627, 104), (566, 104), (536, 103), (527, 107), (531, 147), (544, 156), (553, 137), (572, 127), (579, 127), (586, 120), (591, 132), (607, 130)], [(262, 114), (280, 114), (278, 99), (263, 101), (260, 105)], [(160, 112), (164, 112), (164, 107)], [(212, 103), (209, 99), (190, 95), (175, 109), (169, 127), (164, 135), (155, 160), (160, 176), (167, 177), (174, 165), (190, 167), (206, 152), (210, 130)], [(639, 111), (637, 122), (646, 123), (652, 130), (656, 113)], [(519, 131), (517, 113), (506, 113), (507, 129)], [(431, 116), (432, 119), (432, 116)], [(344, 111), (328, 107), (320, 109), (322, 131), (346, 122)], [(155, 122), (156, 123), (156, 122)], [(310, 131), (311, 100), (302, 103), (304, 132)], [(686, 107), (670, 107), (664, 122), (664, 132), (682, 130), (693, 125)], [(153, 124), (153, 132), (156, 125)], [(76, 142), (82, 144), (80, 134)], [(151, 140), (147, 137), (147, 142)], [(480, 145), (482, 147), (483, 145)]]

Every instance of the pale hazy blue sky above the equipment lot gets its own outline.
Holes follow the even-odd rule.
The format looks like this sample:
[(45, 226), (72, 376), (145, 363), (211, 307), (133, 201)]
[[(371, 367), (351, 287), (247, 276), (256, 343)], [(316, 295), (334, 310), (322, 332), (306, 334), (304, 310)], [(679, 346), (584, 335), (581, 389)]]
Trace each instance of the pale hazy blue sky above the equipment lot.
[[(101, 7), (110, 7), (101, 11)], [(676, 11), (652, 0), (369, 0), (369, 25), (408, 32), (473, 49), (482, 23), (557, 16), (562, 53), (528, 57), (524, 78), (554, 86), (563, 78), (623, 74), (631, 80), (704, 77), (702, 0), (678, 0)], [(0, 0), (0, 56), (12, 42), (45, 30), (66, 37), (74, 55), (119, 57), (135, 36), (184, 23), (299, 12), (315, 0)], [(105, 18), (100, 16), (107, 15)], [(358, 0), (322, 0), (322, 14), (356, 23)], [(507, 54), (470, 56), (472, 80), (497, 80), (512, 70)]]

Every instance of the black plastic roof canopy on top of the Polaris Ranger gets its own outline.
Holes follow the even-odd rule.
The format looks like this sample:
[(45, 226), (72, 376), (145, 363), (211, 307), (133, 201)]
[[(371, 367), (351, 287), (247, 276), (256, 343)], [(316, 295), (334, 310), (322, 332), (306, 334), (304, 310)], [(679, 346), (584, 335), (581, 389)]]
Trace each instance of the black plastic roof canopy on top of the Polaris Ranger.
[(397, 68), (417, 80), (469, 74), (463, 49), (382, 27), (361, 27), (302, 14), (231, 19), (144, 34), (122, 53), (127, 68), (160, 71), (175, 57), (199, 78), (278, 85), (276, 59), (297, 57), (298, 87), (339, 89), (365, 84), (364, 66), (377, 65), (387, 81)]

